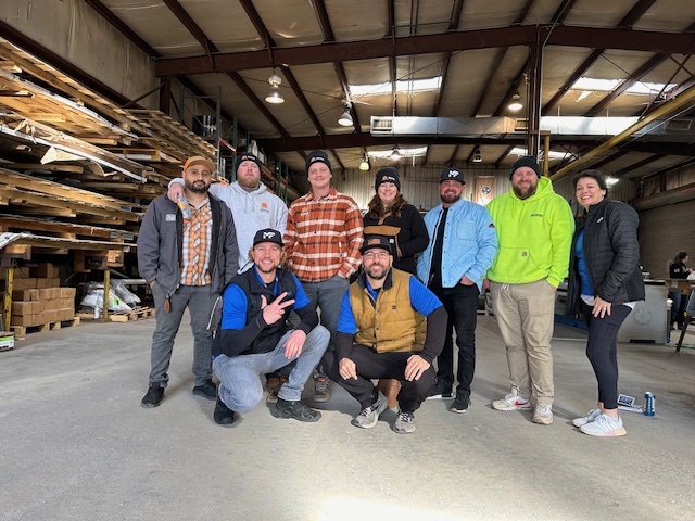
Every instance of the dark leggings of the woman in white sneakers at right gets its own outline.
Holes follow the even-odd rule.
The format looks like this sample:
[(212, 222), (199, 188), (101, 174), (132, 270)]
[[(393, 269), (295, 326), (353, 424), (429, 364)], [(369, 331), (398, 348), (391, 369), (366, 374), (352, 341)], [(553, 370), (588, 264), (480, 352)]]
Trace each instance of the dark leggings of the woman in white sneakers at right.
[(582, 301), (582, 312), (589, 326), (586, 358), (591, 361), (598, 381), (598, 402), (606, 409), (618, 408), (618, 347), (616, 336), (620, 325), (630, 315), (628, 306), (611, 306), (610, 316), (592, 316), (593, 306)]

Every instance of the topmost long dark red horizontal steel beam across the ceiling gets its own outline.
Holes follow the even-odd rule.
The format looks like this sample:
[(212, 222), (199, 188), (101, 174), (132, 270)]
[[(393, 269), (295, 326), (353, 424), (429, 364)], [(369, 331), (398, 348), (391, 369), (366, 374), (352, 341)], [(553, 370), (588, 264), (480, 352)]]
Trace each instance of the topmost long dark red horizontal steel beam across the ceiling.
[[(172, 0), (167, 0), (172, 1)], [(326, 42), (276, 49), (273, 60), (286, 65), (345, 62), (375, 58), (457, 52), (496, 47), (529, 46), (538, 40), (549, 46), (621, 49), (667, 54), (695, 53), (695, 38), (690, 33), (664, 33), (598, 27), (557, 26), (500, 27), (444, 35), (407, 36), (394, 39)], [(156, 76), (227, 73), (271, 67), (267, 50), (213, 55), (162, 59), (155, 63)]]

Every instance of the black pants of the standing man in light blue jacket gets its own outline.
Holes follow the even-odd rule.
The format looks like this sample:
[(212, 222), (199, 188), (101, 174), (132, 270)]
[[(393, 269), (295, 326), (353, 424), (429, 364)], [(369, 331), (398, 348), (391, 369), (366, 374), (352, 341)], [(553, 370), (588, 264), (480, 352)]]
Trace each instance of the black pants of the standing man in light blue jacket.
[(476, 372), (476, 325), (478, 323), (478, 285), (457, 284), (454, 288), (430, 288), (444, 304), (448, 314), (444, 348), (437, 357), (437, 386), (448, 390), (454, 385), (454, 330), (458, 346), (456, 396), (470, 398), (470, 384)]

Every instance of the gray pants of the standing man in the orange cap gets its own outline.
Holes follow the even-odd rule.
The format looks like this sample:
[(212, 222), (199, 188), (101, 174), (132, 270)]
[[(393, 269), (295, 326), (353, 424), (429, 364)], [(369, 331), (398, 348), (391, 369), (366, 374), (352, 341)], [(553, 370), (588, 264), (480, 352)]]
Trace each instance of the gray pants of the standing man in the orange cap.
[[(211, 323), (211, 317), (217, 294), (211, 291), (210, 285), (179, 285), (170, 298), (170, 310), (164, 310), (164, 289), (154, 282), (152, 296), (154, 296), (154, 309), (156, 328), (152, 334), (152, 370), (150, 383), (159, 383), (166, 387), (169, 376), (166, 371), (172, 359), (174, 339), (188, 307), (191, 315), (191, 331), (193, 333), (193, 374), (195, 385), (202, 385), (212, 378), (212, 346), (213, 331), (216, 323)], [(218, 314), (215, 314), (218, 316)]]

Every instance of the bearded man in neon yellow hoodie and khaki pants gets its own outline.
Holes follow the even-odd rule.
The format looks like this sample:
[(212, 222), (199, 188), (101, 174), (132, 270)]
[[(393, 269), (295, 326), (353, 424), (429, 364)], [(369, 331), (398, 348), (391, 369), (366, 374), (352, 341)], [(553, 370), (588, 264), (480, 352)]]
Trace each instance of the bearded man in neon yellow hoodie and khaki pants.
[(535, 158), (517, 160), (511, 190), (488, 205), (500, 250), (488, 270), (492, 309), (507, 350), (511, 391), (497, 410), (530, 409), (533, 421), (553, 423), (555, 291), (567, 277), (574, 233), (572, 211), (541, 177)]

